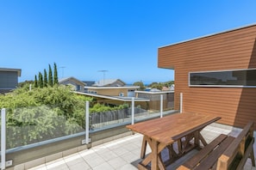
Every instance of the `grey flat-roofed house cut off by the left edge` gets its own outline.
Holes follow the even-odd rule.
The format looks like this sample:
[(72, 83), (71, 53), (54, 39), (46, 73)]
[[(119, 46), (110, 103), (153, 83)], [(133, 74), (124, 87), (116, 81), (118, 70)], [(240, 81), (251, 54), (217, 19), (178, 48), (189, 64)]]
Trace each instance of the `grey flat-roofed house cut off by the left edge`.
[(8, 93), (17, 88), (21, 69), (0, 68), (0, 94)]

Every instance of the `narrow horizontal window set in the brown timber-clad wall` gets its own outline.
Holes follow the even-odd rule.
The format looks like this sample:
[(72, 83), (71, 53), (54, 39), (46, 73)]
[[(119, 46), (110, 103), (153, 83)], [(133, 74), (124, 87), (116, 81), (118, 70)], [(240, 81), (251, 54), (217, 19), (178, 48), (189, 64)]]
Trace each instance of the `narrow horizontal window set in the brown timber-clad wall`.
[(190, 72), (189, 85), (256, 88), (256, 69)]

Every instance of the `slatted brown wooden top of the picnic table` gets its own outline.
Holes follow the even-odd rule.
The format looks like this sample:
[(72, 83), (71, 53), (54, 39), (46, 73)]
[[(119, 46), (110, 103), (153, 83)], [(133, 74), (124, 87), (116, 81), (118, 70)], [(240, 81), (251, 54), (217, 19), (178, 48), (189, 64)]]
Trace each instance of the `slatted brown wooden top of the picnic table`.
[(209, 114), (176, 113), (163, 118), (155, 118), (130, 124), (126, 127), (142, 135), (153, 138), (159, 143), (171, 144), (193, 131), (202, 129), (220, 119)]

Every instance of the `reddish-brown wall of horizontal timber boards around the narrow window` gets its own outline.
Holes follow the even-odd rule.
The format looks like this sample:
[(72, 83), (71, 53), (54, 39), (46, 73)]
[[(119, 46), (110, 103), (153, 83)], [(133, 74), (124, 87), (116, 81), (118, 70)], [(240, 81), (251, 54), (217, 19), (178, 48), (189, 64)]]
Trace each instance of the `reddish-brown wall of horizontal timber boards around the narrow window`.
[[(256, 88), (189, 87), (190, 71), (256, 68), (256, 25), (159, 48), (159, 68), (175, 70), (175, 107), (221, 116), (222, 124), (256, 122)], [(256, 76), (255, 76), (256, 78)]]

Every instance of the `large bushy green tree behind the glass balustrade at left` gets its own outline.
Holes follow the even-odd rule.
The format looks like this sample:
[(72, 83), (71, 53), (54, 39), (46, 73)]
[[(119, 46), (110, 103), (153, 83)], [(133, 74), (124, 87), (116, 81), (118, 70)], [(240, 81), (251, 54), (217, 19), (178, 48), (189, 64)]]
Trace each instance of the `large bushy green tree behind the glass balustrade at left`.
[(8, 148), (83, 131), (85, 100), (92, 98), (66, 86), (32, 91), (24, 86), (0, 95), (0, 108), (8, 108)]

